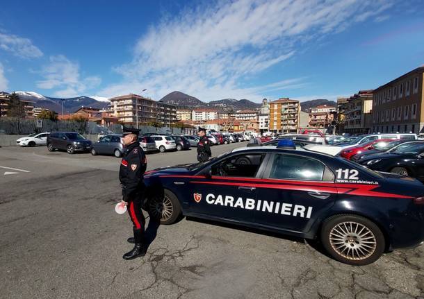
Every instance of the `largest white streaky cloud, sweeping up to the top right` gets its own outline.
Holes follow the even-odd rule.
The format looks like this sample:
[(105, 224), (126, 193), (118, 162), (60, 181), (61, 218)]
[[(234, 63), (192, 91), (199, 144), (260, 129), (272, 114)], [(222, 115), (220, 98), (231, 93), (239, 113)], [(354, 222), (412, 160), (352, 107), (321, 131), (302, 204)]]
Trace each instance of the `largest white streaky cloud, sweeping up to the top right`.
[[(133, 60), (115, 70), (122, 83), (100, 94), (115, 96), (147, 88), (159, 99), (180, 90), (202, 101), (223, 97), (262, 99), (266, 92), (297, 88), (242, 87), (296, 51), (354, 22), (376, 17), (386, 0), (238, 0), (187, 8), (149, 28), (133, 50)], [(282, 74), (287, 78), (286, 74)], [(297, 80), (297, 79), (295, 79)], [(265, 85), (266, 86), (266, 85)]]

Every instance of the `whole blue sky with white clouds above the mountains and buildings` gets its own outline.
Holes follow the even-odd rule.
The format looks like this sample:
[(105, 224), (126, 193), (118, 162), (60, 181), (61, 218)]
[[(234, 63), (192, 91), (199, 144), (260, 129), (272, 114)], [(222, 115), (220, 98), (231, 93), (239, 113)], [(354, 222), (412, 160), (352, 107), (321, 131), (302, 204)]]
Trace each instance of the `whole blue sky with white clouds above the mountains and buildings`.
[(0, 91), (336, 99), (424, 64), (424, 1), (3, 1)]

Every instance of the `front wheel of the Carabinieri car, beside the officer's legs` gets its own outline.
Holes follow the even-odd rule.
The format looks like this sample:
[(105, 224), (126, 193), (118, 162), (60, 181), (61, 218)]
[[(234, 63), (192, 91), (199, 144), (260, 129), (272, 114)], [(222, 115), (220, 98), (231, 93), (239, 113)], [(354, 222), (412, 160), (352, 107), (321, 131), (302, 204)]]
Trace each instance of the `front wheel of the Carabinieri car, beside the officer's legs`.
[(163, 191), (163, 197), (149, 198), (149, 215), (163, 225), (175, 223), (181, 216), (181, 205), (170, 190)]

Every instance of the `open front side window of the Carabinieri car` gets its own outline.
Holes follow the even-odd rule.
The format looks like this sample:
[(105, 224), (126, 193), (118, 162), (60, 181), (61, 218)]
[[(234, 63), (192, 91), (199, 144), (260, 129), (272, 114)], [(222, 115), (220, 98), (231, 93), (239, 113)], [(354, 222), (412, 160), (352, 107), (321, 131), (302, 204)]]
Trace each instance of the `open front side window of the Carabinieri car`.
[(241, 154), (229, 157), (212, 166), (212, 175), (254, 178), (263, 157), (265, 157), (264, 154)]

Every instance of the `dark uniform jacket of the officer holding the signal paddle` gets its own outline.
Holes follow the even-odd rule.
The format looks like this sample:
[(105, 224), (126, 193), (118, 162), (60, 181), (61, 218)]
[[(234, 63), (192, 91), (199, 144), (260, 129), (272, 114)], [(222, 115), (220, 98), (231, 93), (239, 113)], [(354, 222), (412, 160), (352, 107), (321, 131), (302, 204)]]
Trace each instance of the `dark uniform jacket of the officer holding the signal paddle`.
[(127, 146), (120, 166), (120, 182), (124, 201), (131, 201), (131, 197), (142, 187), (146, 166), (146, 156), (140, 147), (140, 143), (134, 142)]

